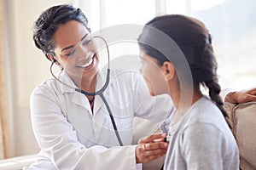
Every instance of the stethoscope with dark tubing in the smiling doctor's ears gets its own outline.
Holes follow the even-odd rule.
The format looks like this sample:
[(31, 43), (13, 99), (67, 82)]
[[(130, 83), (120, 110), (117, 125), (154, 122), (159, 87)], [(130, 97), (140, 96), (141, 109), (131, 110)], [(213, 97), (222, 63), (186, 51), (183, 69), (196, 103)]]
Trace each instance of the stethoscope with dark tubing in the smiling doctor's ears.
[(55, 62), (56, 62), (55, 59), (53, 59), (51, 65), (50, 65), (50, 67), (49, 67), (49, 71), (50, 71), (52, 77), (54, 77), (58, 82), (61, 82), (61, 84), (67, 86), (68, 88), (73, 88), (76, 92), (79, 92), (79, 93), (84, 94), (84, 95), (89, 95), (89, 96), (96, 96), (96, 95), (99, 95), (99, 96), (102, 98), (102, 101), (103, 101), (104, 105), (106, 105), (106, 107), (107, 107), (108, 115), (110, 116), (110, 119), (111, 119), (111, 122), (112, 122), (112, 125), (113, 125), (113, 129), (114, 129), (114, 133), (115, 133), (115, 135), (116, 135), (116, 138), (117, 138), (118, 141), (119, 141), (119, 145), (120, 145), (120, 146), (123, 146), (124, 144), (122, 143), (122, 140), (121, 140), (120, 135), (119, 135), (119, 131), (118, 131), (117, 127), (116, 127), (116, 123), (115, 123), (114, 118), (113, 118), (113, 113), (112, 113), (112, 111), (110, 110), (110, 107), (109, 107), (109, 105), (108, 105), (108, 102), (107, 102), (107, 100), (105, 99), (104, 94), (103, 94), (103, 92), (106, 90), (106, 88), (108, 88), (109, 77), (110, 77), (110, 68), (109, 68), (110, 56), (109, 56), (108, 42), (107, 42), (103, 37), (99, 37), (99, 36), (95, 36), (95, 37), (98, 37), (98, 38), (101, 38), (101, 39), (102, 39), (102, 41), (103, 41), (103, 42), (105, 43), (105, 45), (106, 45), (107, 52), (108, 52), (107, 79), (106, 79), (106, 82), (105, 82), (105, 84), (103, 85), (103, 87), (102, 87), (101, 89), (97, 90), (96, 92), (92, 92), (92, 93), (91, 93), (91, 92), (86, 92), (86, 91), (84, 91), (84, 90), (81, 90), (81, 89), (79, 89), (79, 88), (74, 88), (74, 87), (68, 85), (68, 84), (65, 83), (65, 82), (61, 82), (60, 79), (58, 79), (57, 77), (55, 77), (55, 75), (54, 75), (54, 73), (53, 73), (53, 71), (52, 71), (52, 66), (53, 66), (53, 65), (55, 64)]

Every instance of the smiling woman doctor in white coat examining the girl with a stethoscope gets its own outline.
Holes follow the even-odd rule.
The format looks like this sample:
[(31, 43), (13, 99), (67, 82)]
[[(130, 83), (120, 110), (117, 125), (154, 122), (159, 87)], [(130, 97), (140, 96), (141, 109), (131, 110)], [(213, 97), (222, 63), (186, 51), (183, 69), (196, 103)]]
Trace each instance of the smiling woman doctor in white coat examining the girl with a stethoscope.
[(170, 103), (170, 97), (150, 96), (143, 77), (131, 71), (110, 73), (103, 94), (113, 112), (119, 139), (102, 98), (75, 90), (96, 92), (105, 83), (94, 37), (79, 8), (60, 5), (45, 10), (35, 22), (33, 40), (62, 71), (32, 92), (32, 128), (41, 151), (24, 169), (132, 170), (166, 154), (168, 144), (163, 142), (163, 133), (131, 145), (135, 116), (160, 122), (172, 112), (172, 105), (163, 102)]

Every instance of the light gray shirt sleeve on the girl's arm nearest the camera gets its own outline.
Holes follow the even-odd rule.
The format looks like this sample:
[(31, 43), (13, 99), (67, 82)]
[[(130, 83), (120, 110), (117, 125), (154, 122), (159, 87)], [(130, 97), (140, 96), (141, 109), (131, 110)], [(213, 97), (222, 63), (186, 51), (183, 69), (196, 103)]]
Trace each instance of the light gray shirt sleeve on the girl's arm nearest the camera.
[(223, 134), (207, 123), (187, 127), (181, 138), (184, 161), (188, 170), (219, 170), (223, 167)]

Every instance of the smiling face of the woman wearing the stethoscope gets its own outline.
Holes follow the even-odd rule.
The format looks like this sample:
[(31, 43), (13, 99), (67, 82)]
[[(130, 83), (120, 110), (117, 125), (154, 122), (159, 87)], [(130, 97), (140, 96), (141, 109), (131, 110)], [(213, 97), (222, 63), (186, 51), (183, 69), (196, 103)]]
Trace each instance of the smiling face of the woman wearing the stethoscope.
[(90, 31), (80, 22), (70, 20), (58, 26), (53, 37), (55, 59), (74, 82), (94, 77), (98, 58)]

